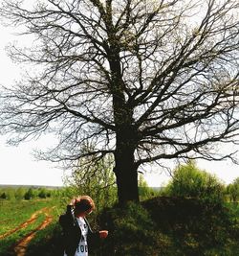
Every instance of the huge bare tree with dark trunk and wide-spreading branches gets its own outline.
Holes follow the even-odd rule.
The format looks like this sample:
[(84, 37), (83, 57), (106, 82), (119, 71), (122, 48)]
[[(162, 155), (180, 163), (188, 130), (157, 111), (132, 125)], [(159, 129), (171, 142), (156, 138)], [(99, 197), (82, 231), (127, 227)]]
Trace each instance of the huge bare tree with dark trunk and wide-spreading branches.
[(236, 0), (22, 2), (0, 9), (34, 35), (9, 48), (35, 68), (1, 94), (1, 129), (15, 143), (53, 132), (53, 161), (114, 154), (121, 203), (139, 200), (143, 164), (233, 156), (214, 145), (239, 128)]

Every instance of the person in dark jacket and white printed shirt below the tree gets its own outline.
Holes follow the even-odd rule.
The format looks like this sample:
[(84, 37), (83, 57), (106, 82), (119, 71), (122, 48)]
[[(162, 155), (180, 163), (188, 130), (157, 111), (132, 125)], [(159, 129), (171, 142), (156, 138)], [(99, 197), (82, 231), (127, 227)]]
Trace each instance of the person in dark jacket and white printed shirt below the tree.
[(72, 199), (64, 215), (59, 217), (63, 229), (64, 256), (88, 256), (88, 244), (94, 239), (106, 238), (107, 230), (93, 232), (86, 216), (95, 209), (95, 203), (88, 196)]

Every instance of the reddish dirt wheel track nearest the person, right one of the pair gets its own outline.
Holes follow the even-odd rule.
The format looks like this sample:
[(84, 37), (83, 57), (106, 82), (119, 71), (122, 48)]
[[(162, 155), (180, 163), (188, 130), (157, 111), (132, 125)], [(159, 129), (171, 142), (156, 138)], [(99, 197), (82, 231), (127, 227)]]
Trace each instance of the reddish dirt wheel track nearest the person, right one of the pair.
[[(45, 220), (38, 225), (31, 233), (26, 235), (23, 239), (21, 239), (17, 244), (14, 246), (14, 251), (16, 253), (16, 256), (24, 256), (26, 254), (27, 246), (30, 243), (30, 241), (33, 239), (34, 235), (37, 231), (44, 229), (48, 224), (53, 221), (53, 217), (49, 214), (50, 209), (49, 208), (43, 208), (40, 211), (37, 211), (33, 214), (33, 218), (36, 219), (36, 215), (40, 213), (44, 213), (46, 218)], [(31, 219), (30, 219), (31, 220)]]

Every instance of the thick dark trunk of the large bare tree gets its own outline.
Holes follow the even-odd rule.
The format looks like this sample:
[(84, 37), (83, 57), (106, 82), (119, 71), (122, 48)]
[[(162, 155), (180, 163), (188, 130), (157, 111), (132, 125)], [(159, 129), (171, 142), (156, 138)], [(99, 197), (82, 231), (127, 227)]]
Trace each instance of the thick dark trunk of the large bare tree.
[(111, 90), (116, 124), (115, 169), (117, 177), (119, 204), (127, 201), (139, 201), (138, 172), (135, 165), (134, 151), (137, 142), (136, 130), (133, 128), (133, 109), (127, 105), (124, 95), (124, 82), (120, 68), (120, 47), (115, 35), (111, 36), (111, 49), (108, 52), (112, 73)]

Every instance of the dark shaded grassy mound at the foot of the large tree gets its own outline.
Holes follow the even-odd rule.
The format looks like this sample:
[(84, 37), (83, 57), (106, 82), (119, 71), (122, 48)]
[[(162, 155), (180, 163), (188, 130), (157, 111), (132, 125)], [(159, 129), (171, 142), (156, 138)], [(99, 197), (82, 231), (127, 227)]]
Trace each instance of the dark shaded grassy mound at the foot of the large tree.
[(105, 209), (99, 222), (109, 237), (94, 255), (239, 255), (238, 229), (220, 203), (151, 198)]

